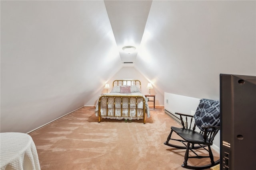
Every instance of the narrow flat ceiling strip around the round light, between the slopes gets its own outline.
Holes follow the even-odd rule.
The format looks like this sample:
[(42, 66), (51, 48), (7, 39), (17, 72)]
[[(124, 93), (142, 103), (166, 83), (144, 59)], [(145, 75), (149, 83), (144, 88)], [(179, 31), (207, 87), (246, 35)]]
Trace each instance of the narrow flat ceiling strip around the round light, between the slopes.
[(122, 62), (134, 62), (137, 52), (126, 54), (122, 47), (139, 47), (152, 0), (104, 0)]

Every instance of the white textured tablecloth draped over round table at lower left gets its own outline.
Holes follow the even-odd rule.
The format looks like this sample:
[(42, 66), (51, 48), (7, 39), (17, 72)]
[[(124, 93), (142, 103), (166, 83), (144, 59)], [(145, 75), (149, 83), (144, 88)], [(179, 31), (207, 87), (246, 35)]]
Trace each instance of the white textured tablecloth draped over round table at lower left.
[(36, 146), (26, 133), (0, 133), (1, 170), (40, 170)]

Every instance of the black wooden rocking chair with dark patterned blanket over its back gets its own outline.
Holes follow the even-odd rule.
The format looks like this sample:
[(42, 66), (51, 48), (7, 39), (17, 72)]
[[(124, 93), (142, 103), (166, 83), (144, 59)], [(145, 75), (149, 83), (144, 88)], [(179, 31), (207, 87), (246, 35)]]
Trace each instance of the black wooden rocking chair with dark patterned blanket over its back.
[[(217, 100), (201, 99), (194, 116), (182, 113), (176, 114), (180, 115), (182, 127), (171, 127), (170, 135), (164, 144), (178, 149), (186, 149), (182, 167), (202, 170), (219, 164), (220, 160), (214, 161), (210, 146), (213, 143), (215, 135), (220, 129), (220, 103)], [(185, 117), (186, 123), (184, 123), (183, 117)], [(194, 125), (192, 127), (193, 118)], [(200, 129), (200, 132), (195, 131), (196, 126)], [(175, 132), (182, 139), (172, 138), (173, 132)], [(179, 141), (184, 144), (184, 146), (169, 143), (170, 140)], [(208, 147), (208, 149), (206, 149), (206, 147)], [(209, 156), (199, 156), (195, 152), (195, 150), (198, 148), (204, 148), (207, 150)], [(189, 156), (189, 151), (192, 151), (196, 156)], [(211, 164), (204, 166), (191, 166), (188, 165), (188, 158), (210, 158)]]

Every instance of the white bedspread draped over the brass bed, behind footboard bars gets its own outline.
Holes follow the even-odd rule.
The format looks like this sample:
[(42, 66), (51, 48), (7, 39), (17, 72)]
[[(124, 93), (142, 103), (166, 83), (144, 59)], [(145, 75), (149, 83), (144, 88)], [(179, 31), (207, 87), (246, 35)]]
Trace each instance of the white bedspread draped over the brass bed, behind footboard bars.
[[(135, 93), (129, 93), (129, 94), (120, 94), (120, 93), (106, 93), (103, 94), (102, 96), (112, 96), (112, 95), (125, 95), (125, 96), (143, 96), (145, 98), (145, 96), (139, 92), (135, 92)], [(99, 96), (100, 98), (100, 96)], [(98, 98), (98, 100), (99, 100)], [(96, 116), (98, 116), (98, 100), (97, 100), (97, 104), (96, 104), (96, 108), (95, 108), (95, 114)], [(121, 108), (121, 98), (116, 98), (116, 109)], [(141, 98), (137, 99), (137, 105), (138, 105), (138, 109), (143, 109), (143, 100)], [(145, 98), (145, 112), (147, 114), (147, 117), (150, 117), (150, 111), (149, 111), (149, 107), (148, 107), (148, 102), (146, 101)], [(107, 107), (107, 101), (106, 98), (101, 98), (101, 112), (106, 109)], [(122, 107), (124, 108), (124, 110), (126, 110), (125, 108), (128, 108), (128, 98), (123, 98), (123, 105)], [(108, 98), (108, 108), (114, 108), (114, 98), (113, 97), (109, 97)], [(136, 99), (135, 98), (130, 98), (130, 108), (136, 108)], [(111, 109), (110, 109), (111, 110)], [(103, 117), (104, 118), (104, 117)], [(126, 117), (106, 117), (106, 118), (116, 118), (116, 119), (120, 119), (120, 118), (126, 118)], [(132, 119), (132, 118), (128, 118), (128, 119)]]

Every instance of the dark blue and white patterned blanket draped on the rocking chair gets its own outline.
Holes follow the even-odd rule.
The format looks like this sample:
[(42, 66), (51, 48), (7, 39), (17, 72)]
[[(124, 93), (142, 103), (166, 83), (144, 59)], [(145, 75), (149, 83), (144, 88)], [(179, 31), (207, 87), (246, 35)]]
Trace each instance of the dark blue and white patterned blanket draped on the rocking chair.
[(202, 125), (220, 126), (220, 102), (218, 100), (201, 99), (194, 114), (196, 126)]

